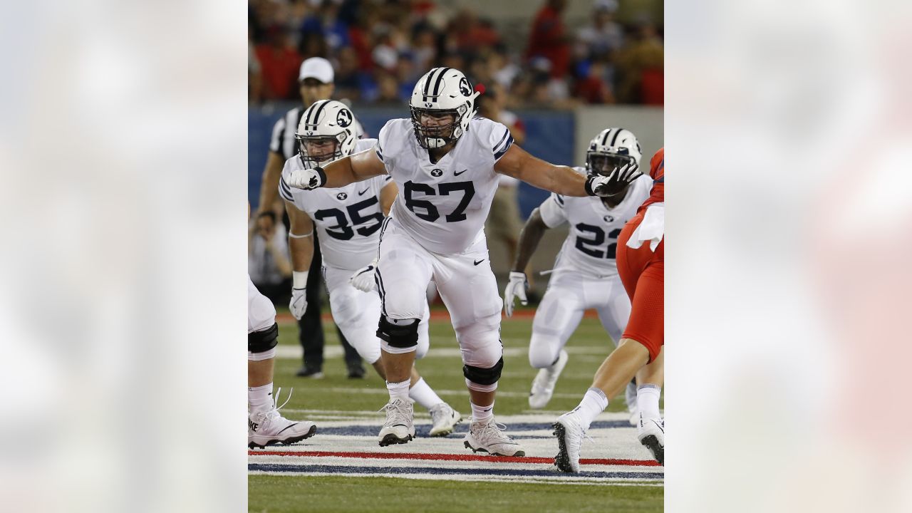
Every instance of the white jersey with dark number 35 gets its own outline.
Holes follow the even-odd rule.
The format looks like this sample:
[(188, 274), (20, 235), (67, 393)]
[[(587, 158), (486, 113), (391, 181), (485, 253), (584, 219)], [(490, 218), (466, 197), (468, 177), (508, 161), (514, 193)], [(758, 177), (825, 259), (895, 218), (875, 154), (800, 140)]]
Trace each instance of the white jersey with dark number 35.
[[(355, 152), (371, 149), (376, 143), (376, 139), (358, 140)], [(320, 187), (305, 191), (285, 182), (288, 173), (295, 169), (305, 169), (297, 155), (285, 161), (279, 194), (314, 221), (323, 264), (351, 270), (370, 264), (377, 257), (380, 225), (384, 218), (380, 190), (389, 183), (390, 177), (380, 175), (337, 189)]]

